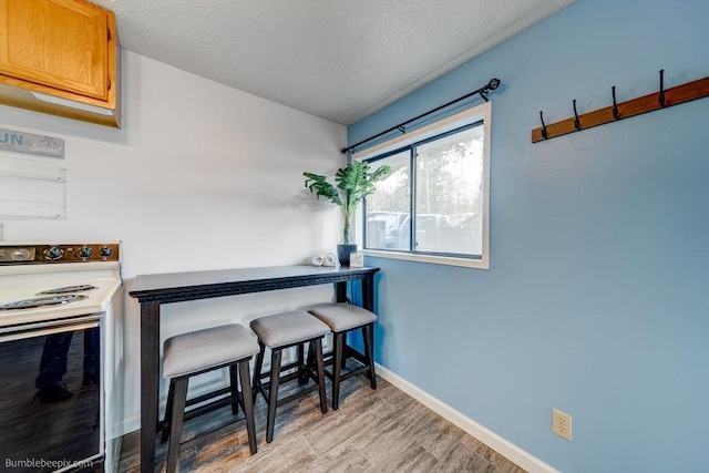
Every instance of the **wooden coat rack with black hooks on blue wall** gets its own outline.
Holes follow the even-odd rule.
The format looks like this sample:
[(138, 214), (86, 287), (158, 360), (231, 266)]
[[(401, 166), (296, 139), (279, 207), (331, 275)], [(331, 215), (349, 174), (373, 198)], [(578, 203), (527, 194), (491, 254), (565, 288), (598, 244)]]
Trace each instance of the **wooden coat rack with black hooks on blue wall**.
[(542, 126), (532, 130), (532, 143), (709, 96), (709, 78), (665, 90), (665, 70), (661, 70), (658, 92), (617, 103), (615, 85), (610, 91), (613, 105), (579, 115), (576, 110), (576, 100), (574, 100), (574, 116), (561, 122), (544, 123), (544, 112), (540, 112)]

